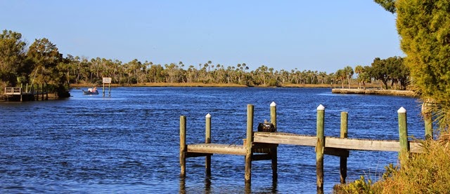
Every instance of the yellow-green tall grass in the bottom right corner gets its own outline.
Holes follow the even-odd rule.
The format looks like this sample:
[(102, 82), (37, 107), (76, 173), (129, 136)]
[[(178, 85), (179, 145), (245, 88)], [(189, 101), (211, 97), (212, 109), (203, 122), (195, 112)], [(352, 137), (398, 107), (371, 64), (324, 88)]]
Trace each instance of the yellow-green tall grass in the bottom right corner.
[(335, 186), (334, 193), (450, 193), (450, 133), (423, 141), (423, 148), (424, 153), (401, 156), (401, 166), (385, 167), (380, 181), (372, 183), (361, 176)]

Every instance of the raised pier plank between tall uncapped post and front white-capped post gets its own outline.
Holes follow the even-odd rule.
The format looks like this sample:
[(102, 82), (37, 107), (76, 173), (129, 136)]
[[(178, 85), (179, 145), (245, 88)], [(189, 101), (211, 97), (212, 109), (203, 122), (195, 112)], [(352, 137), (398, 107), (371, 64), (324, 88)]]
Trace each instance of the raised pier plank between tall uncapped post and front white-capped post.
[(316, 146), (317, 138), (284, 132), (255, 132), (253, 141), (270, 144), (290, 144), (297, 146)]

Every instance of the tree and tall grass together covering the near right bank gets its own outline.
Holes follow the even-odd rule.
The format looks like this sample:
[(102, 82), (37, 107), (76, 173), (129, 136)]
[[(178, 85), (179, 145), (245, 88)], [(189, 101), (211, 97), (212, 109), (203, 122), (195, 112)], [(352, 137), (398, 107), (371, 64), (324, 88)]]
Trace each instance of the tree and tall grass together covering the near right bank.
[[(450, 1), (375, 0), (397, 13), (404, 63), (423, 110), (434, 118), (437, 140), (423, 141), (424, 153), (399, 158), (373, 183), (364, 176), (334, 193), (449, 193), (450, 190)], [(423, 113), (428, 114), (426, 112)], [(404, 157), (406, 157), (404, 155)]]

